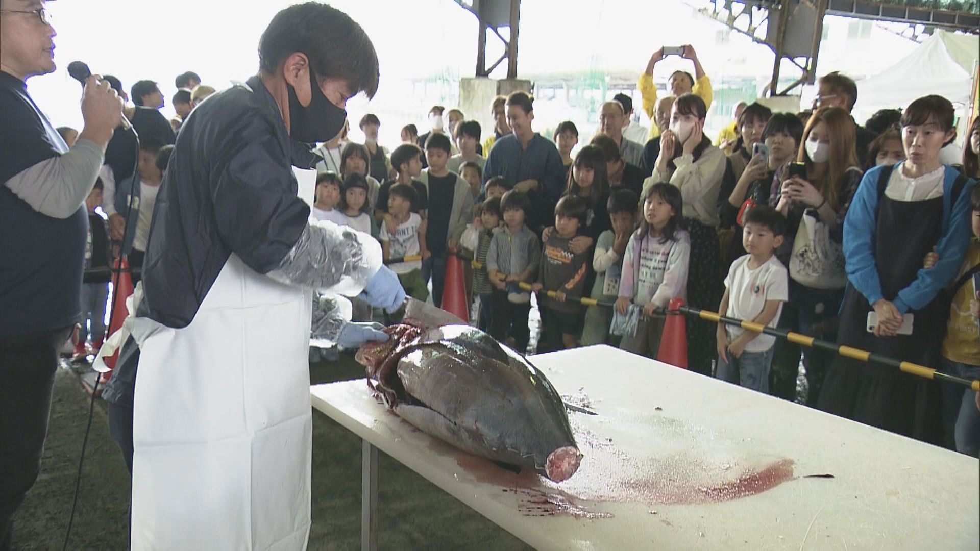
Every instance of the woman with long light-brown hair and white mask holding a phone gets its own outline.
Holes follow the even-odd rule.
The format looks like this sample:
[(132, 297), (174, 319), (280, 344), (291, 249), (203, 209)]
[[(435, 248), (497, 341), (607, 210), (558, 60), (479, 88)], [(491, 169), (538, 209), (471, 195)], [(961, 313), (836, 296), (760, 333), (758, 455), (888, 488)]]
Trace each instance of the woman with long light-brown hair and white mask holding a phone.
[[(839, 107), (817, 109), (804, 129), (797, 163), (789, 165), (779, 192), (769, 198), (787, 220), (783, 246), (776, 256), (790, 269), (790, 300), (783, 307), (779, 326), (824, 340), (836, 338), (833, 321), (844, 297), (843, 267), (836, 268), (838, 274), (831, 274), (834, 267), (825, 264), (824, 276), (805, 280), (793, 270), (790, 256), (797, 232), (805, 226), (805, 216), (812, 218), (809, 222), (814, 233), (828, 235), (838, 246), (841, 243), (844, 217), (861, 178), (855, 139), (854, 120), (847, 111)], [(795, 398), (800, 354), (798, 345), (779, 341), (769, 372), (773, 394)], [(822, 350), (803, 350), (810, 406), (816, 404), (831, 359), (832, 355)]]

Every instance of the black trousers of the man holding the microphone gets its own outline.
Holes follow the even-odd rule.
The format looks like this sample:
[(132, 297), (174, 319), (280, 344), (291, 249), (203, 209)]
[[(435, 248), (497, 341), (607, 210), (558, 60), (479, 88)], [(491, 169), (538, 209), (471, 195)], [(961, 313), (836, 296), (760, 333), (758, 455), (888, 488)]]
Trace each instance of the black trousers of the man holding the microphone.
[(64, 327), (0, 347), (0, 550), (11, 549), (14, 513), (41, 470)]

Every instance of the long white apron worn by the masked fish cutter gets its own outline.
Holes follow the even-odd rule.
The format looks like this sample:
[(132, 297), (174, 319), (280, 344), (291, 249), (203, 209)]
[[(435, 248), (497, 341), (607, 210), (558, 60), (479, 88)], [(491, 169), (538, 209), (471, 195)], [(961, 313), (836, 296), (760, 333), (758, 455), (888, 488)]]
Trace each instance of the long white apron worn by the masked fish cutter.
[(133, 324), (133, 549), (305, 549), (312, 293), (234, 254), (182, 329)]

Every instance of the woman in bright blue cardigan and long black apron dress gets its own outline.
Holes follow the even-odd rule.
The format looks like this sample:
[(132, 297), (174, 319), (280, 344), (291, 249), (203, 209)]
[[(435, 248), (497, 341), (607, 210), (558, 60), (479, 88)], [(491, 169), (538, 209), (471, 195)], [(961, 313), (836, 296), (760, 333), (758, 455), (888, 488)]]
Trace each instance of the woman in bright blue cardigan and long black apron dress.
[[(902, 116), (907, 160), (865, 173), (844, 222), (848, 287), (838, 343), (939, 368), (949, 315), (941, 289), (956, 277), (970, 239), (974, 181), (939, 161), (956, 136), (953, 105), (925, 96)], [(939, 262), (923, 269), (935, 250)], [(871, 325), (869, 313), (877, 317)], [(905, 315), (911, 334), (902, 334)], [(905, 332), (903, 330), (903, 332)], [(895, 368), (838, 356), (823, 384), (820, 409), (936, 443), (941, 407), (937, 383)]]

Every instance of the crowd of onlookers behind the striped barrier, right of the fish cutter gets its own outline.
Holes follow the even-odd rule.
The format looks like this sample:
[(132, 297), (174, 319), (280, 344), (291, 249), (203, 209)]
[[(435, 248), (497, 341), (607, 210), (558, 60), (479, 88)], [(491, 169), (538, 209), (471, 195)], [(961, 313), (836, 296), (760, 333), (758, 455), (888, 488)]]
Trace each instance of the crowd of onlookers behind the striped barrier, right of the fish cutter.
[[(403, 128), (386, 175), (376, 163), (382, 183), (372, 211), (360, 212), (361, 200), (347, 194), (364, 186), (365, 148), (386, 151), (373, 138), (343, 146), (363, 150), (365, 161), (355, 175), (345, 165), (320, 176), (315, 213), (352, 225), (353, 215), (373, 212), (372, 234), (385, 258), (399, 261), (393, 268), (405, 288), (425, 300), (430, 283), (436, 305), (447, 255), (471, 258), (466, 296), (475, 323), (521, 353), (532, 340), (532, 293), (537, 352), (606, 343), (651, 358), (663, 310), (681, 298), (980, 375), (978, 288), (967, 276), (980, 271), (968, 220), (980, 219), (973, 191), (980, 123), (970, 126), (959, 162), (944, 164), (956, 137), (949, 101), (926, 96), (861, 126), (851, 116), (857, 84), (831, 73), (819, 79), (811, 110), (772, 113), (743, 103), (712, 141), (711, 81), (691, 46), (681, 55), (695, 75), (670, 75), (670, 95), (650, 85), (662, 52), (640, 75), (654, 122), (643, 143), (629, 137), (637, 132), (624, 94), (602, 104), (599, 131), (584, 145), (572, 121), (553, 136), (534, 131), (530, 94), (497, 97), (483, 155), (479, 124), (434, 106), (428, 132)], [(451, 114), (445, 129), (443, 113)], [(372, 115), (361, 122), (369, 136), (379, 124)], [(692, 371), (792, 400), (802, 362), (808, 405), (980, 453), (971, 392), (736, 326), (687, 325)]]

